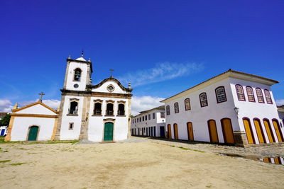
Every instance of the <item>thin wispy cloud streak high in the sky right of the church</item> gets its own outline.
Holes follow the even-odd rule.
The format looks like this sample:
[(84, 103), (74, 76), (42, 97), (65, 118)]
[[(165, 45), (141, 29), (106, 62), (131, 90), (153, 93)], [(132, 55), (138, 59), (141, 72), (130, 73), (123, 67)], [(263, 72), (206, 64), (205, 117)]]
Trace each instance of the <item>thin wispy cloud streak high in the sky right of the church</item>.
[(128, 73), (118, 79), (124, 84), (131, 82), (131, 86), (141, 86), (143, 84), (174, 79), (179, 76), (187, 76), (194, 72), (201, 71), (203, 68), (202, 64), (196, 63), (178, 64), (163, 62), (156, 64), (155, 67), (151, 69), (143, 69)]

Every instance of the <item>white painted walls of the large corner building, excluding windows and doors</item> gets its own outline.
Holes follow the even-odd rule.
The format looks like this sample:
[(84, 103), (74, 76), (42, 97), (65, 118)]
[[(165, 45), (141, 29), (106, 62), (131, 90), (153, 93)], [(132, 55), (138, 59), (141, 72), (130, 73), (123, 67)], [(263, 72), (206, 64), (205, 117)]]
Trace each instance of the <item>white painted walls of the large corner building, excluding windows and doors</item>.
[[(283, 125), (282, 120), (278, 116), (277, 107), (271, 91), (271, 85), (278, 83), (271, 79), (265, 79), (259, 76), (253, 76), (251, 74), (244, 74), (238, 71), (226, 71), (219, 76), (204, 81), (202, 84), (194, 86), (186, 91), (182, 91), (175, 96), (161, 101), (165, 103), (165, 109), (169, 105), (170, 115), (166, 115), (166, 125), (170, 125), (171, 137), (174, 139), (174, 124), (178, 125), (178, 139), (189, 139), (187, 134), (187, 122), (192, 122), (192, 129), (195, 141), (210, 142), (208, 120), (215, 120), (217, 126), (217, 135), (220, 143), (224, 143), (224, 134), (222, 130), (221, 120), (223, 118), (229, 118), (231, 120), (231, 127), (235, 133), (246, 133), (244, 128), (243, 118), (249, 118), (251, 121), (251, 127), (256, 144), (259, 144), (256, 134), (256, 128), (253, 125), (253, 119), (258, 118), (261, 120), (261, 127), (263, 128), (263, 134), (268, 143), (268, 135), (266, 128), (263, 124), (263, 119), (267, 118), (272, 126), (272, 132), (275, 135), (273, 127), (273, 119), (277, 119), (280, 125)], [(243, 86), (244, 96), (246, 101), (239, 101), (236, 93), (236, 84)], [(217, 96), (215, 89), (219, 86), (224, 86), (226, 92), (226, 101), (217, 103)], [(249, 102), (246, 93), (246, 86), (253, 88), (254, 98), (256, 102)], [(272, 104), (266, 102), (266, 98), (263, 93), (265, 103), (258, 103), (256, 96), (256, 88), (261, 88), (263, 93), (264, 89), (267, 89), (271, 94)], [(207, 94), (208, 105), (201, 107), (200, 105), (200, 93)], [(185, 110), (185, 99), (190, 98), (190, 110)], [(174, 104), (178, 103), (179, 113), (175, 113)], [(239, 108), (237, 114), (234, 108)], [(168, 127), (167, 127), (168, 132)], [(283, 132), (283, 127), (281, 127)], [(284, 134), (284, 133), (283, 133)], [(234, 136), (236, 137), (236, 136)], [(275, 137), (276, 139), (277, 137)], [(235, 138), (236, 142), (236, 138)], [(278, 142), (276, 139), (275, 142)], [(244, 142), (246, 143), (246, 142)]]

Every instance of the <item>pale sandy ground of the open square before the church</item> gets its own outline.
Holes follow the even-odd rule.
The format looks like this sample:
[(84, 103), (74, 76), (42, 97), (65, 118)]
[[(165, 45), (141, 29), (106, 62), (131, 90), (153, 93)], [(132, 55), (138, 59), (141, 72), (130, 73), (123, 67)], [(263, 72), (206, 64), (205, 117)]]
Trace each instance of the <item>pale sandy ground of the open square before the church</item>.
[(284, 166), (177, 146), (0, 144), (0, 188), (284, 187)]

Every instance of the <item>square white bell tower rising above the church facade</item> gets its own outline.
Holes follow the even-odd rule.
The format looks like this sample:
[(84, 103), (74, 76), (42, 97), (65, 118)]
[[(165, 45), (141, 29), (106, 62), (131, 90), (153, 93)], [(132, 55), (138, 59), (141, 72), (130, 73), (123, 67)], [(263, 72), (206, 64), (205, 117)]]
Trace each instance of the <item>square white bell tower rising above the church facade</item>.
[(70, 56), (67, 58), (63, 90), (85, 91), (86, 86), (92, 84), (92, 62), (91, 59), (86, 61), (83, 53), (77, 59), (71, 59)]

